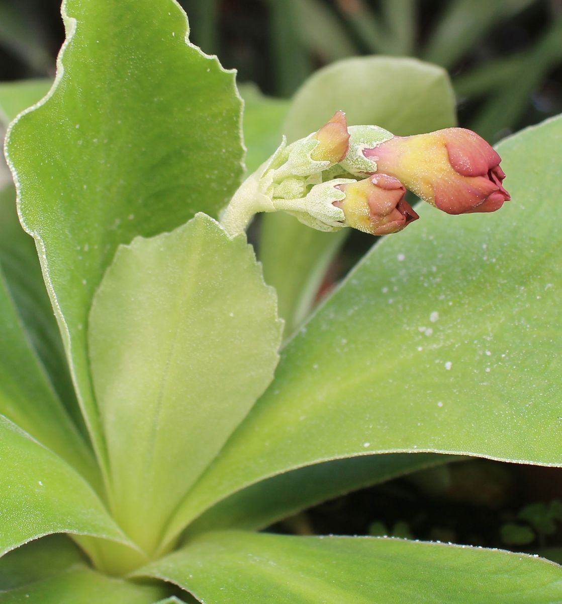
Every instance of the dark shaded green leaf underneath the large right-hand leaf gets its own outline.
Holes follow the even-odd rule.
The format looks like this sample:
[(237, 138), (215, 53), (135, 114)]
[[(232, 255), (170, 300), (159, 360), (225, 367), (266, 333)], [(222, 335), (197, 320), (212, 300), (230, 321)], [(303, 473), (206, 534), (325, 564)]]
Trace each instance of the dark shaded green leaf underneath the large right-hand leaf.
[(361, 455), (285, 472), (230, 495), (193, 522), (186, 536), (256, 530), (337, 495), (452, 461), (451, 455)]

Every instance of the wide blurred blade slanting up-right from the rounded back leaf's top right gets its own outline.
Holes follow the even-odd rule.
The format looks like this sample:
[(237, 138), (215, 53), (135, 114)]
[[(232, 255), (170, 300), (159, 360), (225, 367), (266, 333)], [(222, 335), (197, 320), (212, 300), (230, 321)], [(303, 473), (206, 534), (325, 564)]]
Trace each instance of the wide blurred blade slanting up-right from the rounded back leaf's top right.
[(444, 67), (455, 65), (490, 28), (507, 21), (535, 0), (455, 0), (443, 14), (426, 43), (423, 58)]

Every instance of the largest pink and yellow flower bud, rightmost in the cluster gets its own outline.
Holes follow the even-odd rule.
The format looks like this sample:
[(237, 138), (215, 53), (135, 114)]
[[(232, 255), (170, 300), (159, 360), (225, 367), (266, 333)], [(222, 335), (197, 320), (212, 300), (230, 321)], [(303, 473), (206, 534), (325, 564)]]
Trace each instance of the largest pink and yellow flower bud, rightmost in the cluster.
[(510, 199), (500, 156), (472, 130), (393, 137), (363, 155), (447, 214), (493, 212)]

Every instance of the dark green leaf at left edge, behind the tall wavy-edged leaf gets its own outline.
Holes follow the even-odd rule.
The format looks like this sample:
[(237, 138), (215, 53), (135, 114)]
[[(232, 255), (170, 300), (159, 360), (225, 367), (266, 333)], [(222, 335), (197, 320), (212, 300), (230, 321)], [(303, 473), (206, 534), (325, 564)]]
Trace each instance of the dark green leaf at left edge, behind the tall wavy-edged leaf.
[[(16, 191), (13, 185), (8, 185), (0, 191), (0, 266), (14, 306), (24, 325), (25, 334), (45, 368), (52, 387), (77, 425), (83, 427), (62, 339), (41, 274), (37, 250), (33, 238), (25, 233), (17, 219)], [(11, 355), (11, 350), (6, 349), (5, 353)], [(30, 364), (37, 362), (31, 361)], [(30, 370), (30, 367), (21, 364), (18, 373), (24, 368)], [(29, 431), (29, 428), (25, 429)]]

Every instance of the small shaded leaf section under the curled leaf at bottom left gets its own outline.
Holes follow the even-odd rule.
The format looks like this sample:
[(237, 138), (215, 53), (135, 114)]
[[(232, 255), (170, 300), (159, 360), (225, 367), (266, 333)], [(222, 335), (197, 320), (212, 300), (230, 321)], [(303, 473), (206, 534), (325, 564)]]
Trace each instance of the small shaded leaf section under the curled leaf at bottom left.
[(85, 561), (68, 535), (49, 535), (0, 558), (0, 593), (63, 573)]

